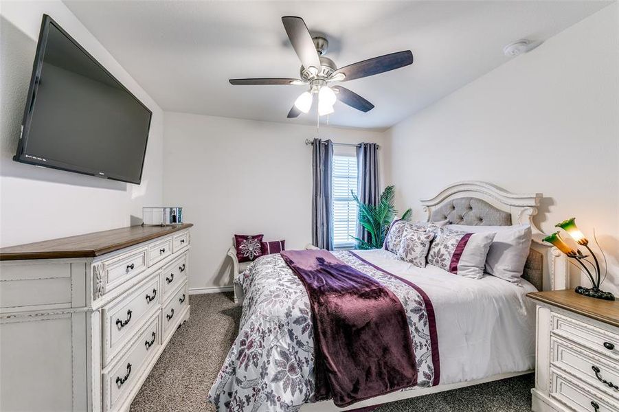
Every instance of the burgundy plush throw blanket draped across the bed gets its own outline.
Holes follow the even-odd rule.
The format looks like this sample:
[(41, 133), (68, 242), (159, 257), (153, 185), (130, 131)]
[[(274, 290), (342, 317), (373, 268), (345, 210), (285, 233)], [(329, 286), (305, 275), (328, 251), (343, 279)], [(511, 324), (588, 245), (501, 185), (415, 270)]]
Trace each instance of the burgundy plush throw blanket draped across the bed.
[(325, 250), (281, 255), (311, 304), (316, 400), (346, 407), (417, 384), (406, 313), (391, 290)]

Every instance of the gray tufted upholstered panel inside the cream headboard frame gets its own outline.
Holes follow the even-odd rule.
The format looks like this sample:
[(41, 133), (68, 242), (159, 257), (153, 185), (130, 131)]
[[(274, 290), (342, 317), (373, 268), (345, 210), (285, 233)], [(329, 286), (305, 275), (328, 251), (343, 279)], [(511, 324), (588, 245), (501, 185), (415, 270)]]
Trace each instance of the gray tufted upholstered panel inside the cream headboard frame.
[[(508, 211), (498, 209), (475, 197), (450, 198), (431, 210), (429, 217), (431, 222), (440, 222), (445, 219), (453, 225), (509, 226), (512, 224), (512, 215)], [(530, 249), (522, 277), (538, 290), (543, 290), (543, 255), (541, 253)]]

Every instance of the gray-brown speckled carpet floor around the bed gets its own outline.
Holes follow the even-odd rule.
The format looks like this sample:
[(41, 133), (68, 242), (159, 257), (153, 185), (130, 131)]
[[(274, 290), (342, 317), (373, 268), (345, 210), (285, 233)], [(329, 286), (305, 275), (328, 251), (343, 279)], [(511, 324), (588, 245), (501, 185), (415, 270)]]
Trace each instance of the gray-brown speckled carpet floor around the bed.
[[(232, 341), (240, 308), (232, 293), (191, 295), (191, 316), (172, 337), (131, 412), (215, 411), (206, 395)], [(529, 412), (533, 375), (385, 404), (374, 412)]]

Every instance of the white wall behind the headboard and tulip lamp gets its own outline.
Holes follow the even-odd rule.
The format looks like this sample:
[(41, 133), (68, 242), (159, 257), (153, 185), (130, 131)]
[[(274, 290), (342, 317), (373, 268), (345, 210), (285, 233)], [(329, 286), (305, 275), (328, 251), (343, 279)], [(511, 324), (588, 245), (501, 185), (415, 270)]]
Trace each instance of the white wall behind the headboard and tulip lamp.
[(541, 229), (595, 228), (618, 292), (618, 27), (614, 3), (387, 130), (397, 205), (462, 180), (541, 192)]

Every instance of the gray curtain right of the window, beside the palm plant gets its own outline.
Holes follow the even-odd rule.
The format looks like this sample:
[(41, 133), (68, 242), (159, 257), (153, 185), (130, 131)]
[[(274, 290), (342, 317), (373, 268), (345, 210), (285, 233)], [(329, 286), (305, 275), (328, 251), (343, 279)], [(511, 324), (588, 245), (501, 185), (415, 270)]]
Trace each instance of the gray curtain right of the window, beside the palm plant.
[[(366, 205), (378, 205), (379, 192), (379, 145), (361, 143), (357, 146), (357, 194)], [(370, 242), (372, 236), (361, 225), (357, 225), (357, 238)]]

